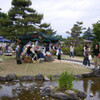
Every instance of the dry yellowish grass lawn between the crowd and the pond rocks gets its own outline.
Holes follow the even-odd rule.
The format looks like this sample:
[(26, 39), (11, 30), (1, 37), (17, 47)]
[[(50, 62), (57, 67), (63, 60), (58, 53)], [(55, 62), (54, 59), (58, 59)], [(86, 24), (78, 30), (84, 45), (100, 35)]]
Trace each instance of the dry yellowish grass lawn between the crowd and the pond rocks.
[(67, 61), (58, 61), (54, 62), (43, 62), (43, 63), (23, 63), (20, 65), (16, 64), (14, 56), (0, 56), (3, 59), (0, 62), (0, 75), (6, 76), (10, 73), (15, 73), (18, 76), (22, 75), (37, 75), (42, 73), (43, 75), (54, 75), (55, 73), (62, 73), (67, 71), (68, 73), (73, 74), (82, 74), (91, 72), (90, 69), (84, 68), (77, 64), (71, 64)]

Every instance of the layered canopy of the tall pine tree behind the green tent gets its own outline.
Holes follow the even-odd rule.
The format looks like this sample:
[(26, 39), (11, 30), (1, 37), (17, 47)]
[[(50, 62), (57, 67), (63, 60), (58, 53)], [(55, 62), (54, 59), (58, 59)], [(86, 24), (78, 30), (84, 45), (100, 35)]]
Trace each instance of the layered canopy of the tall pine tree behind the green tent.
[(19, 36), (30, 32), (43, 32), (45, 34), (54, 35), (55, 31), (50, 27), (50, 24), (41, 23), (43, 14), (30, 6), (30, 0), (12, 0), (12, 7), (8, 12), (9, 25), (8, 35)]

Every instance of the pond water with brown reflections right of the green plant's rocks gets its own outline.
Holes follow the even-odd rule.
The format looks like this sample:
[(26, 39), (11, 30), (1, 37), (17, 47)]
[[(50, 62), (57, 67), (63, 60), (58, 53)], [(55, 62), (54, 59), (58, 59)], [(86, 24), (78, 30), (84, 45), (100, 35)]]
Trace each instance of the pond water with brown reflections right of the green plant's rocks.
[(100, 78), (85, 78), (77, 81), (74, 84), (74, 88), (86, 92), (88, 95), (86, 100), (100, 100)]

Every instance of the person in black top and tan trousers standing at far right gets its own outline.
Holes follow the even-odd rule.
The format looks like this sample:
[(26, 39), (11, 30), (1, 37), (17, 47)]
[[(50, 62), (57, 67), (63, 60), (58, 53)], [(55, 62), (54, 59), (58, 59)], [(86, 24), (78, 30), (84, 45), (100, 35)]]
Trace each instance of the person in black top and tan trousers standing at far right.
[(99, 54), (99, 46), (96, 44), (93, 49), (94, 54), (94, 66), (95, 68), (98, 68), (98, 54)]

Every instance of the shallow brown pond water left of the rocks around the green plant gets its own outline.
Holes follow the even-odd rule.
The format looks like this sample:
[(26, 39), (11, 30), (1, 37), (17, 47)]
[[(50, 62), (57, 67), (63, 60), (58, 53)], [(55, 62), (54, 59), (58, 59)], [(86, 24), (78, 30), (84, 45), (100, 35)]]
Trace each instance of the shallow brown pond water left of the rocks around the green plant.
[(57, 100), (42, 97), (35, 83), (4, 82), (0, 83), (0, 100)]

